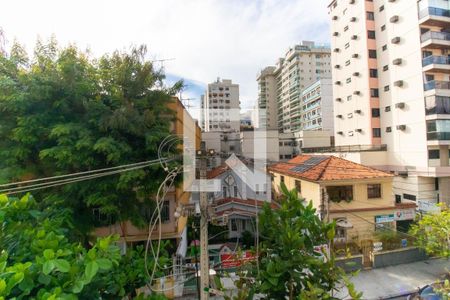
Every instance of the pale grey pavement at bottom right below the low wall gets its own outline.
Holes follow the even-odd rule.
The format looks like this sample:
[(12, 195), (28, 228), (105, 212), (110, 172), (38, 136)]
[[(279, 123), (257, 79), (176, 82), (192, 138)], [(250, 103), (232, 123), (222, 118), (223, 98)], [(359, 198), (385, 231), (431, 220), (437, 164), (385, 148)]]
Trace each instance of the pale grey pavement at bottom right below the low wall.
[[(386, 299), (414, 292), (418, 287), (436, 281), (446, 271), (450, 271), (450, 260), (430, 259), (361, 271), (352, 282), (357, 291), (364, 293), (364, 299)], [(343, 299), (347, 291), (343, 290), (336, 296)]]

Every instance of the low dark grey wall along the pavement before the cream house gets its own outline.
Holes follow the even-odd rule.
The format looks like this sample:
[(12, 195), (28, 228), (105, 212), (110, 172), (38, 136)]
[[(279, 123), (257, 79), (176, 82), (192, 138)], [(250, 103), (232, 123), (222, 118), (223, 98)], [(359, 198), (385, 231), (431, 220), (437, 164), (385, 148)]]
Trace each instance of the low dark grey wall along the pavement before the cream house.
[(428, 259), (425, 252), (418, 248), (406, 248), (389, 252), (379, 252), (374, 253), (373, 257), (374, 268), (383, 268)]

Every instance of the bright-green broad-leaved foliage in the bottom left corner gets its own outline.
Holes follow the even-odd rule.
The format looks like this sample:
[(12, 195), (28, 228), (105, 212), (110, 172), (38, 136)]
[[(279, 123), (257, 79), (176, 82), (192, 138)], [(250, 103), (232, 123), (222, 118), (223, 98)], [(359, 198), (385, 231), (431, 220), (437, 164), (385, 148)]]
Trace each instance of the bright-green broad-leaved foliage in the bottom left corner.
[(0, 299), (118, 299), (146, 283), (142, 249), (121, 256), (114, 237), (72, 243), (67, 211), (36, 208), (30, 195), (0, 196)]

